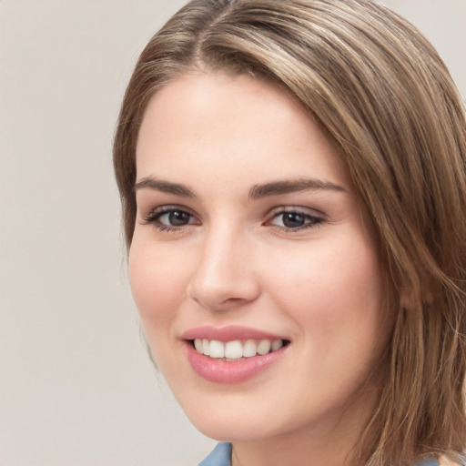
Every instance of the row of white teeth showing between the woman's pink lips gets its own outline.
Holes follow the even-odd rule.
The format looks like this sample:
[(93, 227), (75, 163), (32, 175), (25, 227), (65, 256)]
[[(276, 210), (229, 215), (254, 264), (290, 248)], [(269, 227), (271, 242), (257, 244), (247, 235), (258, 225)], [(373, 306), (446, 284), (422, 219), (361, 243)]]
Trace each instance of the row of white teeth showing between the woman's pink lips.
[(192, 344), (199, 354), (212, 359), (226, 360), (228, 362), (263, 356), (278, 351), (287, 343), (282, 339), (234, 339), (219, 341), (218, 339), (194, 339)]

